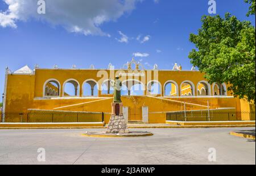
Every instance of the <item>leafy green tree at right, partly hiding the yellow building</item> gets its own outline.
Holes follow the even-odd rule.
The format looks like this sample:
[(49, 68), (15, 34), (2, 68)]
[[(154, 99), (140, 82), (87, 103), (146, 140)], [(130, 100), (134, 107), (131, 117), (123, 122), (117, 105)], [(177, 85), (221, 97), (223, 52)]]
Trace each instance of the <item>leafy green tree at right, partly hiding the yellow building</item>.
[(229, 83), (234, 97), (255, 103), (255, 27), (229, 13), (203, 16), (201, 22), (198, 35), (189, 37), (197, 48), (189, 53), (191, 63), (209, 83)]

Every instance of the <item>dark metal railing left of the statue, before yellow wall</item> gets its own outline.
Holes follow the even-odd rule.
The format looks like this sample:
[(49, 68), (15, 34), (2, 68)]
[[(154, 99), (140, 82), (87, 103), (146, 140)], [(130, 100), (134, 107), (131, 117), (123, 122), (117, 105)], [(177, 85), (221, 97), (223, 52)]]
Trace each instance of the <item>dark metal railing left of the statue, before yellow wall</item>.
[(1, 115), (5, 123), (86, 123), (104, 121), (104, 112), (28, 112)]

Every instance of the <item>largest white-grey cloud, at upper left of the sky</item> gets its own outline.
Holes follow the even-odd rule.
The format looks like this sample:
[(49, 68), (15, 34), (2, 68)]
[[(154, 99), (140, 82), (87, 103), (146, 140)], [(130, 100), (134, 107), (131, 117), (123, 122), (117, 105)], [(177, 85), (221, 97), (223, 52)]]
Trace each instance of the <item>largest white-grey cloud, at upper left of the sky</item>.
[(38, 0), (3, 0), (9, 8), (0, 12), (0, 26), (17, 27), (16, 22), (34, 18), (63, 26), (69, 32), (84, 35), (109, 36), (101, 31), (101, 24), (115, 21), (135, 9), (142, 0), (50, 0), (46, 1), (46, 14), (38, 14)]

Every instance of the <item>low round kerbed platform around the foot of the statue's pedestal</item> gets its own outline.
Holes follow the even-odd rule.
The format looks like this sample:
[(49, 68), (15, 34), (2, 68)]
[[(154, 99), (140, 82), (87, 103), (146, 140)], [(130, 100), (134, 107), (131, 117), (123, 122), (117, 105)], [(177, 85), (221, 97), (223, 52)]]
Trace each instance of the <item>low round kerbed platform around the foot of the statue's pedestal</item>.
[(105, 133), (105, 132), (90, 132), (87, 131), (83, 134), (88, 137), (143, 137), (152, 136), (152, 132), (147, 131), (130, 131), (129, 133)]

